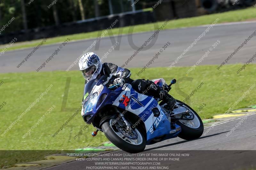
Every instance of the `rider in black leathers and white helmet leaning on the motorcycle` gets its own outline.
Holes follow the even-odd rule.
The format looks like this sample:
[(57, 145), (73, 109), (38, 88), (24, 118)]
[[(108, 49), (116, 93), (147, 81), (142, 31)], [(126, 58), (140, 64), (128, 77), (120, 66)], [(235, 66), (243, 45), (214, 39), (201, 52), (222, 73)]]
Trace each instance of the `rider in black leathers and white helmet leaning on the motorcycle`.
[[(81, 70), (85, 83), (88, 81), (99, 78), (103, 75), (107, 76), (107, 81), (103, 84), (106, 86), (128, 83), (132, 85), (132, 88), (139, 93), (153, 96), (163, 100), (170, 109), (173, 109), (176, 100), (156, 85), (154, 82), (145, 79), (132, 80), (130, 78), (131, 72), (128, 69), (118, 67), (112, 63), (101, 63), (100, 57), (93, 52), (86, 53), (80, 58), (79, 70)], [(84, 99), (83, 99), (84, 100)]]

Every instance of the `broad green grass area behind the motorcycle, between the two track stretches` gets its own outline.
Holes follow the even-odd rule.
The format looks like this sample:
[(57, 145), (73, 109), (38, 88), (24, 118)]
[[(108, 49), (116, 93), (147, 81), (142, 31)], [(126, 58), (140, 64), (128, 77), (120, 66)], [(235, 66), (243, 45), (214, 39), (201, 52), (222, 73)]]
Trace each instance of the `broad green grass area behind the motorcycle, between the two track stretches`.
[[(175, 76), (177, 83), (173, 85), (170, 94), (178, 100), (184, 100), (198, 85), (204, 83), (187, 103), (190, 103), (190, 106), (199, 113), (202, 119), (206, 119), (216, 114), (225, 113), (255, 83), (255, 79), (252, 78), (256, 72), (255, 64), (248, 65), (246, 70), (237, 75), (235, 70), (238, 70), (241, 66), (242, 64), (225, 65), (221, 71), (216, 69), (216, 65), (197, 66), (189, 75), (186, 75), (189, 67), (173, 67), (170, 70), (166, 70), (166, 68), (148, 68), (140, 77), (136, 76), (140, 68), (133, 68), (131, 71), (133, 79), (163, 77), (170, 81)], [(0, 103), (6, 103), (0, 110), (1, 134), (47, 87), (53, 85), (52, 89), (10, 131), (4, 136), (0, 134), (0, 150), (45, 150), (45, 152), (40, 152), (37, 155), (32, 154), (36, 154), (36, 152), (31, 152), (26, 157), (23, 157), (24, 154), (18, 154), (22, 152), (18, 152), (11, 155), (15, 155), (15, 159), (12, 157), (11, 162), (0, 162), (1, 166), (26, 160), (37, 160), (54, 153), (50, 150), (56, 150), (56, 152), (57, 150), (73, 150), (87, 146), (97, 146), (108, 141), (101, 132), (96, 137), (92, 137), (91, 132), (94, 130), (92, 126), (86, 128), (78, 138), (73, 139), (85, 125), (80, 113), (58, 135), (52, 137), (81, 105), (84, 79), (79, 71), (6, 73), (0, 74), (0, 77), (1, 81), (4, 81), (4, 84), (0, 87)], [(68, 77), (71, 78), (71, 82), (66, 107), (74, 109), (61, 111)], [(250, 94), (247, 94), (234, 109), (255, 104), (255, 92), (256, 88), (252, 89)], [(203, 103), (205, 103), (205, 106), (199, 111), (198, 108), (204, 105)], [(30, 135), (23, 139), (22, 136), (38, 122), (52, 105), (55, 105), (56, 108), (45, 116), (42, 122), (39, 122), (37, 127), (30, 132)], [(4, 156), (8, 151), (1, 151), (1, 153), (1, 156)]]

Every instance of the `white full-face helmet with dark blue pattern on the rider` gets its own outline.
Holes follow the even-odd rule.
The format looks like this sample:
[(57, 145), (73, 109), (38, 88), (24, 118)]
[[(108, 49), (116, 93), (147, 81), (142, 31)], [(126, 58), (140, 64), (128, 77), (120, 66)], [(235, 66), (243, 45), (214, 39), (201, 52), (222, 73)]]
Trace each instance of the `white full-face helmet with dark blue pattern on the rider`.
[(82, 74), (87, 81), (97, 78), (102, 69), (100, 57), (93, 52), (83, 55), (80, 58), (78, 65), (79, 70), (82, 71)]

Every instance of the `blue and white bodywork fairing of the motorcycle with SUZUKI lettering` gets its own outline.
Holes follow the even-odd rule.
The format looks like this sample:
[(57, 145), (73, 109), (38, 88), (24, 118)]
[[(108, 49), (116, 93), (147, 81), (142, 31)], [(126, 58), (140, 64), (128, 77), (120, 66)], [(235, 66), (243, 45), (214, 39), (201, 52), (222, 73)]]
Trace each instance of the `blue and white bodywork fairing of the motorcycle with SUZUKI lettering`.
[[(95, 83), (91, 81), (94, 81)], [(84, 92), (84, 95), (87, 92), (89, 93), (86, 97), (86, 100), (89, 100), (90, 96), (92, 96), (93, 94), (95, 95), (95, 93), (98, 94), (97, 101), (102, 99), (103, 95), (107, 94), (107, 97), (102, 101), (100, 100), (101, 103), (94, 102), (92, 106), (89, 106), (88, 108), (92, 107), (90, 108), (91, 110), (83, 109), (85, 111), (87, 110), (86, 113), (82, 111), (82, 116), (84, 117), (86, 123), (92, 123), (92, 125), (94, 125), (93, 119), (97, 112), (104, 108), (106, 105), (114, 105), (116, 107), (127, 110), (141, 118), (141, 121), (143, 121), (145, 124), (147, 144), (151, 144), (151, 140), (156, 137), (162, 137), (161, 140), (165, 140), (177, 137), (180, 133), (181, 128), (179, 125), (175, 125), (176, 129), (171, 129), (171, 124), (168, 121), (164, 111), (161, 109), (161, 107), (153, 97), (136, 92), (130, 84), (124, 84), (116, 90), (111, 91), (110, 89), (108, 89), (108, 87), (102, 85), (101, 81), (104, 82), (104, 80), (91, 81), (88, 82), (90, 83), (89, 85), (91, 86), (91, 88), (89, 88), (89, 85), (88, 87), (84, 88), (86, 90), (86, 92)], [(158, 83), (160, 83), (160, 81), (161, 84), (165, 83), (162, 80), (159, 80)], [(120, 99), (122, 97), (124, 97), (124, 100), (121, 101)], [(154, 116), (152, 111), (153, 108), (159, 111), (159, 115)], [(129, 112), (127, 113), (131, 114)], [(86, 119), (86, 116), (87, 118), (88, 116), (90, 118)]]

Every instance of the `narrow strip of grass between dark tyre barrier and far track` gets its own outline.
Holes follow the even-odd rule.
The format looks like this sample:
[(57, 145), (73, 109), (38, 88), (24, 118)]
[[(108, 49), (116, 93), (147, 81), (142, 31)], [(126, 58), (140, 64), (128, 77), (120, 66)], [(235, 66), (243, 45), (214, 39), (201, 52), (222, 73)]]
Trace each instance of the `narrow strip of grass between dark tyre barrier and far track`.
[[(246, 8), (246, 9), (242, 9), (242, 10), (235, 10), (235, 11), (228, 11), (228, 12), (223, 12), (223, 13), (203, 15), (203, 16), (199, 16), (199, 17), (171, 20), (164, 27), (164, 30), (212, 24), (212, 22), (215, 21), (217, 18), (220, 19), (218, 21), (218, 23), (244, 21), (247, 19), (256, 18), (256, 10), (254, 7), (250, 7), (250, 8)], [(126, 26), (123, 28), (113, 28), (111, 31), (108, 32), (108, 35), (112, 36), (112, 35), (118, 35), (118, 34), (154, 31), (158, 28), (158, 26), (162, 26), (163, 23), (164, 22), (156, 22), (156, 23), (142, 24), (142, 25), (136, 25), (136, 26)], [(158, 26), (154, 26), (155, 24), (157, 24)], [(134, 28), (132, 29), (133, 31), (131, 32), (130, 28), (132, 28), (132, 27), (134, 27)], [(67, 38), (69, 38), (72, 41), (96, 38), (96, 37), (98, 37), (98, 32), (100, 32), (99, 35), (101, 35), (102, 31), (104, 31), (104, 30), (94, 31), (94, 32), (90, 32), (90, 33), (78, 33), (78, 34), (49, 38), (44, 43), (44, 45), (63, 42)], [(27, 41), (27, 42), (18, 42), (9, 48), (6, 48), (6, 50), (9, 51), (9, 50), (15, 50), (15, 49), (21, 49), (21, 48), (33, 48), (33, 47), (36, 47), (42, 40), (43, 39), (35, 40), (35, 41)], [(0, 49), (0, 51), (2, 51), (4, 47), (5, 47), (5, 45), (2, 47), (2, 49)]]

